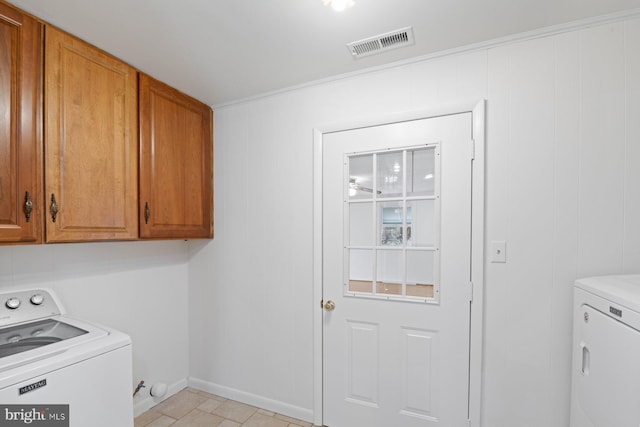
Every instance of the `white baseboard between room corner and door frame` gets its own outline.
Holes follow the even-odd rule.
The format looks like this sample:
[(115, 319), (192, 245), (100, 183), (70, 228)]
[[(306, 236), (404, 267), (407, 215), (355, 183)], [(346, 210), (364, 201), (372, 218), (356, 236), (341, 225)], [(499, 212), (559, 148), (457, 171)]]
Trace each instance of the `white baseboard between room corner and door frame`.
[(209, 381), (203, 381), (198, 378), (189, 377), (187, 383), (189, 387), (206, 391), (207, 393), (215, 394), (227, 399), (237, 400), (238, 402), (246, 403), (247, 405), (256, 406), (258, 408), (266, 409), (267, 411), (286, 415), (291, 418), (297, 418), (313, 424), (313, 410), (311, 409), (290, 405), (285, 402), (214, 384)]

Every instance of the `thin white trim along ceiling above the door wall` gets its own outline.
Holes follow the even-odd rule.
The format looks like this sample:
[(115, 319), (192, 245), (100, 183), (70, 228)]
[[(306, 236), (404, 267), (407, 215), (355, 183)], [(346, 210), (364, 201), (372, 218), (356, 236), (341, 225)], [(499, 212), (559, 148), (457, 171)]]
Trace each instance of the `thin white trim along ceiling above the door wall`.
[(282, 89), (276, 89), (269, 92), (264, 92), (261, 94), (257, 94), (254, 96), (248, 96), (245, 98), (240, 98), (233, 101), (223, 102), (220, 104), (213, 105), (213, 109), (216, 110), (218, 108), (230, 107), (233, 105), (245, 104), (252, 101), (256, 101), (263, 98), (269, 98), (271, 96), (280, 95), (287, 92), (293, 92), (300, 89), (305, 89), (314, 86), (320, 86), (326, 83), (331, 83), (338, 80), (346, 80), (355, 77), (359, 77), (365, 74), (376, 73), (380, 71), (386, 71), (392, 68), (403, 67), (406, 65), (416, 64), (419, 62), (427, 62), (434, 59), (445, 58), (449, 56), (463, 55), (467, 53), (473, 53), (488, 49), (493, 49), (499, 46), (509, 45), (513, 43), (524, 42), (527, 40), (538, 39), (542, 37), (553, 36), (556, 34), (567, 33), (570, 31), (580, 30), (583, 28), (594, 27), (597, 25), (611, 24), (615, 22), (624, 21), (627, 19), (634, 19), (640, 17), (640, 8), (626, 10), (622, 12), (611, 13), (608, 15), (601, 15), (586, 19), (580, 19), (577, 21), (566, 22), (564, 24), (552, 25), (550, 27), (539, 28), (532, 31), (527, 31), (524, 33), (512, 34), (509, 36), (498, 37), (491, 40), (482, 41), (479, 43), (473, 43), (466, 46), (456, 47), (452, 49), (443, 50), (440, 52), (434, 52), (426, 55), (416, 56), (413, 58), (408, 58), (402, 61), (391, 62), (389, 64), (383, 64), (376, 67), (369, 67), (358, 71), (353, 71), (350, 73), (338, 74), (336, 76), (327, 77), (324, 79), (313, 80), (306, 83), (301, 83), (299, 85), (288, 86)]

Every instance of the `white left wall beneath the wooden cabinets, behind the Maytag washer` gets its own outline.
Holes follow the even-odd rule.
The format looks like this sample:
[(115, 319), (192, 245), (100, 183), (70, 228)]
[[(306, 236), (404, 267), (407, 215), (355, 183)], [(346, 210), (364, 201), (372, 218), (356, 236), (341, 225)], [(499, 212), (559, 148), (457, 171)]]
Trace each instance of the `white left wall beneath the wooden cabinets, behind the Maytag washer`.
[[(47, 287), (68, 314), (129, 334), (133, 383), (186, 385), (186, 243), (119, 242), (0, 246), (0, 292)], [(146, 409), (148, 388), (135, 403)], [(149, 400), (145, 405), (145, 400)]]

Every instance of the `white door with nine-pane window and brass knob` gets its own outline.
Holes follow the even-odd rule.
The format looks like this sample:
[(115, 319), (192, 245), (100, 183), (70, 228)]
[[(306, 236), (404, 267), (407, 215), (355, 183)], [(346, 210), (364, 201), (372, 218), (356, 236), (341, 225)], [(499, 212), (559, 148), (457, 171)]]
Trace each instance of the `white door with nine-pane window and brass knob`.
[(323, 421), (468, 426), (471, 113), (323, 135)]

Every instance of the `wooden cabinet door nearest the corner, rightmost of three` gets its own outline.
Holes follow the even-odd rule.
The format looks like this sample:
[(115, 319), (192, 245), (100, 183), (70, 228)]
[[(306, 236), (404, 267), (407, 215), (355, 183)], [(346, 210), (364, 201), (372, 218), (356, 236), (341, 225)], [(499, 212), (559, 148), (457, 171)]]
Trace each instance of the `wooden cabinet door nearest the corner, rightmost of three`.
[(213, 237), (213, 112), (140, 74), (140, 237)]

